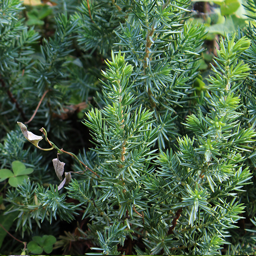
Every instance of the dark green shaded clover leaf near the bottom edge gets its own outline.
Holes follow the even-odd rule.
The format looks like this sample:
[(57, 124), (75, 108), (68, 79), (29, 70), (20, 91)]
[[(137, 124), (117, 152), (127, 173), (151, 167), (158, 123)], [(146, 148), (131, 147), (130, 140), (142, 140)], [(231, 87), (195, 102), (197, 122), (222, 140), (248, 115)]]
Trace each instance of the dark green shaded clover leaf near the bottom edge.
[(28, 244), (28, 249), (35, 254), (41, 254), (43, 251), (46, 253), (51, 253), (53, 250), (53, 244), (56, 242), (54, 236), (34, 236), (33, 241)]

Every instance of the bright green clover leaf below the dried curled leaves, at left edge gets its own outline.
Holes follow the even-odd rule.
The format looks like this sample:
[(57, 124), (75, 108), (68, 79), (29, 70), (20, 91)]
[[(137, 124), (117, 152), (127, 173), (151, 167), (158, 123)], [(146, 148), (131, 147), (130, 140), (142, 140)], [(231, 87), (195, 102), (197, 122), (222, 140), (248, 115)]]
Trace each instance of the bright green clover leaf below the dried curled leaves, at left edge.
[(12, 170), (13, 172), (8, 169), (1, 169), (0, 182), (9, 178), (9, 184), (13, 187), (17, 187), (24, 179), (28, 180), (28, 174), (34, 171), (32, 168), (26, 168), (20, 161), (12, 162)]

